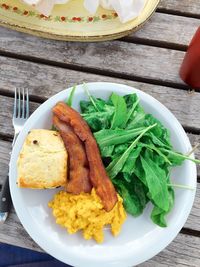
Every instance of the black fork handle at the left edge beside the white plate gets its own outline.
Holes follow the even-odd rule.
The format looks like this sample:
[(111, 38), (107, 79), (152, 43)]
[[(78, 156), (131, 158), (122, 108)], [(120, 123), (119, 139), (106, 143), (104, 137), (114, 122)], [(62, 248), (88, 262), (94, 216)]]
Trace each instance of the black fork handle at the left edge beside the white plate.
[(9, 188), (9, 177), (7, 176), (0, 192), (0, 212), (9, 212), (10, 206), (11, 206), (11, 196)]

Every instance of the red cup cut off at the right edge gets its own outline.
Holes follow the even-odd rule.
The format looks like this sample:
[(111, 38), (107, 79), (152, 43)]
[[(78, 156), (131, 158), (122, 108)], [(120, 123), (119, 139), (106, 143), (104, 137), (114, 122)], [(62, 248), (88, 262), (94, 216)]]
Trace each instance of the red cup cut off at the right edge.
[(190, 87), (200, 90), (200, 27), (185, 54), (180, 69), (180, 77)]

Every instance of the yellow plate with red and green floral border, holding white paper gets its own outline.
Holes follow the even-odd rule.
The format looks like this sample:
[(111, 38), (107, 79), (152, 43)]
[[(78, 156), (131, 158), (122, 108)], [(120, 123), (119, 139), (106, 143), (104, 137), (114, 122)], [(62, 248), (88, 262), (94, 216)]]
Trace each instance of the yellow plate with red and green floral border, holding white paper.
[(0, 0), (0, 25), (41, 37), (68, 41), (105, 41), (125, 36), (142, 26), (159, 0), (146, 0), (140, 16), (122, 24), (113, 11), (99, 8), (91, 16), (83, 0), (56, 5), (50, 17), (39, 14), (20, 0)]

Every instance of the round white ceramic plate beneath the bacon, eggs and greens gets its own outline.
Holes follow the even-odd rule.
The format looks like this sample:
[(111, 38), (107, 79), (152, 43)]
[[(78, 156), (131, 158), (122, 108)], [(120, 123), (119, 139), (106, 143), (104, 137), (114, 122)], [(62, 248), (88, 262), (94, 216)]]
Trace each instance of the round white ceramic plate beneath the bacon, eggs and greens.
[[(113, 83), (90, 83), (89, 91), (96, 97), (108, 98), (111, 92), (120, 95), (136, 92), (146, 110), (158, 118), (171, 132), (174, 148), (182, 153), (191, 150), (189, 139), (174, 115), (153, 97), (140, 90)], [(42, 104), (29, 118), (14, 146), (10, 162), (10, 190), (17, 215), (24, 228), (38, 245), (55, 258), (80, 267), (127, 267), (142, 263), (163, 250), (178, 234), (190, 213), (195, 191), (177, 190), (173, 211), (168, 216), (168, 227), (160, 228), (150, 220), (151, 205), (138, 218), (128, 217), (121, 234), (114, 238), (105, 230), (105, 242), (98, 245), (86, 241), (81, 234), (69, 235), (56, 225), (47, 204), (56, 190), (19, 189), (16, 185), (16, 162), (29, 130), (51, 128), (51, 108), (65, 100), (69, 90), (64, 90)], [(77, 86), (73, 107), (78, 109), (79, 101), (86, 99), (82, 86)], [(33, 170), (34, 171), (34, 170)], [(190, 161), (172, 173), (172, 181), (196, 187), (196, 166)]]

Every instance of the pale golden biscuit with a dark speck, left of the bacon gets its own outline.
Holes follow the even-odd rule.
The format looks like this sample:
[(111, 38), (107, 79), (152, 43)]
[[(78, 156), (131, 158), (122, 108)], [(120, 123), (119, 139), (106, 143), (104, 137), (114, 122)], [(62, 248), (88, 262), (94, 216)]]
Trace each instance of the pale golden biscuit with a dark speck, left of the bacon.
[(18, 186), (32, 189), (65, 186), (67, 157), (67, 151), (58, 132), (31, 130), (17, 162)]

